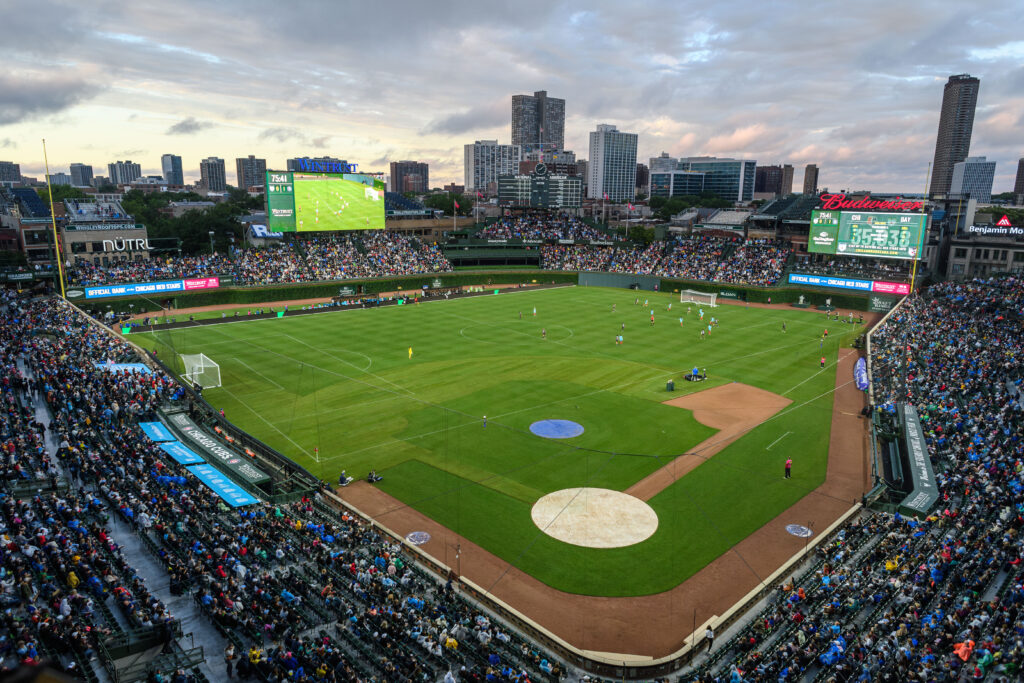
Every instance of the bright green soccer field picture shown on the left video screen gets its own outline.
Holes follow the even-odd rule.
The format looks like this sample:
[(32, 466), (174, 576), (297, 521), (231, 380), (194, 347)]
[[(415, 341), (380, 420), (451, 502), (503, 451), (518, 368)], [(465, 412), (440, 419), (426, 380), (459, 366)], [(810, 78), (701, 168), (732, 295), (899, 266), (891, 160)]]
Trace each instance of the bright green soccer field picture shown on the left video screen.
[(296, 230), (384, 229), (384, 193), (374, 201), (367, 198), (367, 189), (360, 182), (337, 176), (296, 173)]

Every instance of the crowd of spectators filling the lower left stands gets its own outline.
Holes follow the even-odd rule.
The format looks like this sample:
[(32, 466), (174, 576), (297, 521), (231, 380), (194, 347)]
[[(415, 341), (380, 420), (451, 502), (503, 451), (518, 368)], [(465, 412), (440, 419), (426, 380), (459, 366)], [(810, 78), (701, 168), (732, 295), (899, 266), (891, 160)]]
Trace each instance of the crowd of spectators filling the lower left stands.
[[(159, 557), (167, 590), (190, 593), (222, 635), (221, 645), (205, 643), (208, 660), (225, 666), (220, 648), (229, 647), (226, 666), (242, 679), (562, 676), (553, 658), (460, 597), (451, 582), (417, 567), (392, 538), (329, 505), (322, 492), (290, 505), (228, 508), (138, 427), (139, 418), (153, 419), (159, 405), (181, 397), (172, 379), (117, 371), (109, 361), (138, 359), (131, 347), (59, 300), (3, 308), (4, 407), (23, 409), (5, 411), (4, 438), (13, 442), (5, 453), (31, 471), (46, 471), (53, 460), (76, 492), (17, 498), (0, 488), (5, 660), (94, 667), (98, 641), (124, 620), (173, 630), (104, 526), (105, 515), (117, 515)], [(52, 416), (53, 454), (30, 436), (40, 428), (25, 412), (33, 402)], [(164, 676), (187, 682), (197, 674)]]

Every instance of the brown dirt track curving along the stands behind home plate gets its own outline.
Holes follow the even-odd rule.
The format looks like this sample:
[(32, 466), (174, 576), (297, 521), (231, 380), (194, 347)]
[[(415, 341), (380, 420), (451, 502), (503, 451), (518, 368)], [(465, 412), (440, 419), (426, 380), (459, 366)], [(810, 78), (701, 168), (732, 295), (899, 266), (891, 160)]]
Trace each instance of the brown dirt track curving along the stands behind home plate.
[[(366, 482), (339, 488), (338, 495), (396, 533), (429, 532), (422, 550), (577, 648), (665, 656), (688, 642), (694, 623), (724, 613), (805, 547), (803, 539), (785, 531), (786, 524), (811, 525), (818, 532), (867, 490), (870, 451), (859, 416), (864, 398), (852, 382), (857, 357), (853, 349), (840, 349), (824, 483), (689, 580), (657, 595), (607, 598), (558, 591)], [(692, 398), (698, 400), (700, 393)]]

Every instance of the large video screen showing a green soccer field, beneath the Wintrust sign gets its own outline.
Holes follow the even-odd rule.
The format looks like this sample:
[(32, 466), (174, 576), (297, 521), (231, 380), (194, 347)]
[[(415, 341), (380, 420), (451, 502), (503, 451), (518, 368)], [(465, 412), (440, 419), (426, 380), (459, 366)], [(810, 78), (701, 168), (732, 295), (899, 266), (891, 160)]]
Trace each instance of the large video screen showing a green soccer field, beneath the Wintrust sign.
[(360, 173), (267, 171), (267, 227), (281, 232), (384, 229), (384, 183)]

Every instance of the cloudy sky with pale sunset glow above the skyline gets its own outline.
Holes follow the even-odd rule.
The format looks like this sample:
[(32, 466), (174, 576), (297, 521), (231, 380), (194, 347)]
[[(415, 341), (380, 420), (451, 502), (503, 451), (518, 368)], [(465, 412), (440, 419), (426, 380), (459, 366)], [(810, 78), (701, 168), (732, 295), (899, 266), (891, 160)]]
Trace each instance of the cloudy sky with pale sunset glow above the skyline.
[[(920, 193), (942, 85), (981, 79), (972, 155), (1012, 188), (1024, 157), (1019, 2), (134, 3), (0, 0), (0, 159), (330, 155), (463, 178), (463, 145), (510, 138), (511, 95), (566, 100), (566, 146), (599, 123), (660, 152), (817, 163), (831, 189)], [(15, 8), (16, 5), (16, 8)]]

